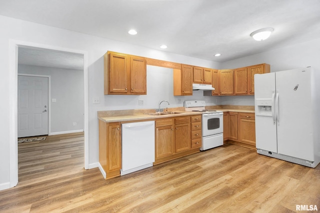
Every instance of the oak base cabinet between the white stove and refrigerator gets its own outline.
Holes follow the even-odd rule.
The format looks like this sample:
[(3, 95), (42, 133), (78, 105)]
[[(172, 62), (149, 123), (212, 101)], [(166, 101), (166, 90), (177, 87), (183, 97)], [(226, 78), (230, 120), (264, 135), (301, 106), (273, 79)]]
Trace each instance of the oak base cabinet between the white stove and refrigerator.
[(254, 113), (224, 112), (223, 140), (255, 149)]

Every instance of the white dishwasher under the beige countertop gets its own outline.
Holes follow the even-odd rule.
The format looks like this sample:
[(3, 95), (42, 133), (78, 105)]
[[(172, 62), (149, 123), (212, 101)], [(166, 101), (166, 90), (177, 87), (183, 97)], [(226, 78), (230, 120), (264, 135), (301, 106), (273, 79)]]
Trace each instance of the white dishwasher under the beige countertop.
[(122, 169), (126, 175), (147, 167), (154, 162), (154, 121), (121, 124)]

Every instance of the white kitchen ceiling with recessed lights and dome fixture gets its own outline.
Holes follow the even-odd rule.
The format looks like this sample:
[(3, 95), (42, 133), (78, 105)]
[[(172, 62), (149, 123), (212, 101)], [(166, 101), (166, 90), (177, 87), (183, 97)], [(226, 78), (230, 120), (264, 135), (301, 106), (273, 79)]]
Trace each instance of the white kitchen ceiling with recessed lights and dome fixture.
[(320, 35), (320, 0), (0, 0), (0, 15), (217, 62)]

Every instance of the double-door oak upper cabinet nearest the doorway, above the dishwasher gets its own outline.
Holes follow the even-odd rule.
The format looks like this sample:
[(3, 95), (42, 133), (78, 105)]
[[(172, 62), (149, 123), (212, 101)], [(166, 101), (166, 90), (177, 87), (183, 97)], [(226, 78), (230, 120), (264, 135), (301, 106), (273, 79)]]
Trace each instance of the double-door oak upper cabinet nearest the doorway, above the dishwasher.
[(104, 55), (104, 94), (145, 95), (145, 59), (134, 55), (107, 52)]

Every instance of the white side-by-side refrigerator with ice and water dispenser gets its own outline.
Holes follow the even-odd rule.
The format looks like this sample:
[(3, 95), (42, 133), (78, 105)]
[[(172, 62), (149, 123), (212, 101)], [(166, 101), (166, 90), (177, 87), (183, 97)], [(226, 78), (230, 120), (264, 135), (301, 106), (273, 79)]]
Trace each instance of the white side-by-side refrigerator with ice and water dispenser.
[(320, 71), (254, 75), (258, 154), (314, 168), (320, 162)]

